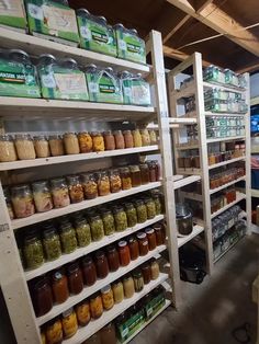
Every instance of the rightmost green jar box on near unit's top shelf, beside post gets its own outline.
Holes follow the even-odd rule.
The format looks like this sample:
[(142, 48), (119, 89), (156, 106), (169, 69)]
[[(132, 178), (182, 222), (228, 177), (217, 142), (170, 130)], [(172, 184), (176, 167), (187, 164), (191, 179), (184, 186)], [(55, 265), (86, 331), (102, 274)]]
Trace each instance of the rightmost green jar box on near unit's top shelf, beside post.
[(117, 42), (117, 57), (146, 64), (146, 45), (144, 39), (138, 36), (137, 31), (126, 28), (123, 24), (117, 24), (114, 28)]

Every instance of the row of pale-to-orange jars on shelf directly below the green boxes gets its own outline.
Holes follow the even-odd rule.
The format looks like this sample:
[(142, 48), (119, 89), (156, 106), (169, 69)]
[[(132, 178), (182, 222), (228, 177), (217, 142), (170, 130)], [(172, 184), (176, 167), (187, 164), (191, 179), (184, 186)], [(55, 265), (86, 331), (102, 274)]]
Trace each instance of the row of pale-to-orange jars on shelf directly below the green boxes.
[(0, 162), (31, 160), (36, 158), (58, 157), (99, 152), (104, 150), (125, 149), (157, 145), (155, 130), (108, 130), (66, 133), (31, 137), (29, 134), (0, 136)]

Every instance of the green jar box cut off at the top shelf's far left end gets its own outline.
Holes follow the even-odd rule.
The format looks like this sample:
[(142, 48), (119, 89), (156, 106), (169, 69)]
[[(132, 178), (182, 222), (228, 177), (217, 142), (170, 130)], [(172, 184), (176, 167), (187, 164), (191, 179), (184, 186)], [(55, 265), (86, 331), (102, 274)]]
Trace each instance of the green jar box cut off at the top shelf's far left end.
[(1, 1), (0, 26), (25, 32), (26, 15), (21, 0)]

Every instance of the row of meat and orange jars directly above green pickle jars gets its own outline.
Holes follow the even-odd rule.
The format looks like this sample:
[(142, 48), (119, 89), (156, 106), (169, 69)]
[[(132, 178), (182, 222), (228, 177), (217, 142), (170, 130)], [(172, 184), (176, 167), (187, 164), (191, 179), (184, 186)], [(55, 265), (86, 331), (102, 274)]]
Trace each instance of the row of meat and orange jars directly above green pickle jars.
[[(85, 199), (106, 196), (160, 180), (160, 165), (151, 160), (139, 165), (68, 175), (4, 188), (10, 218), (63, 208)], [(50, 185), (50, 186), (49, 186)]]

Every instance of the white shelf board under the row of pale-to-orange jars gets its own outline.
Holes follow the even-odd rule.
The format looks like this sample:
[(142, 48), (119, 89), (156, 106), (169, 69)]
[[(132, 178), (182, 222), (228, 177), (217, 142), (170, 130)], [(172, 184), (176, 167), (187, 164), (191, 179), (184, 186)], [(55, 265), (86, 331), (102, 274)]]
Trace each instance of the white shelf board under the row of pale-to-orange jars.
[(111, 157), (119, 157), (119, 156), (126, 156), (126, 154), (151, 152), (151, 151), (157, 151), (157, 150), (159, 150), (159, 147), (157, 145), (154, 145), (154, 146), (146, 146), (146, 147), (106, 150), (106, 151), (100, 151), (100, 152), (41, 158), (41, 159), (34, 159), (34, 160), (0, 162), (0, 171), (20, 170), (20, 169), (36, 168), (36, 167), (43, 167), (43, 165), (45, 167), (45, 165), (53, 165), (53, 164), (58, 164), (58, 163), (70, 163), (74, 161), (83, 161), (83, 160), (87, 161), (87, 160), (100, 159), (100, 158), (111, 158)]

